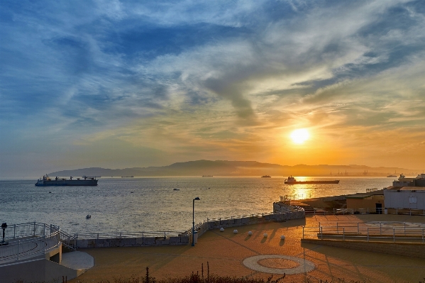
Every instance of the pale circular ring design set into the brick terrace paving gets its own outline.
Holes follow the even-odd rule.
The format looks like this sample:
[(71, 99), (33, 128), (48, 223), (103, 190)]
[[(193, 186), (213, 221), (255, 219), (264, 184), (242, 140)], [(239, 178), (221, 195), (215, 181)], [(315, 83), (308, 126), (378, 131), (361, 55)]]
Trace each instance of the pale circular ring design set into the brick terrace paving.
[(245, 258), (243, 265), (251, 270), (272, 274), (298, 274), (315, 268), (313, 262), (289, 255), (254, 255)]

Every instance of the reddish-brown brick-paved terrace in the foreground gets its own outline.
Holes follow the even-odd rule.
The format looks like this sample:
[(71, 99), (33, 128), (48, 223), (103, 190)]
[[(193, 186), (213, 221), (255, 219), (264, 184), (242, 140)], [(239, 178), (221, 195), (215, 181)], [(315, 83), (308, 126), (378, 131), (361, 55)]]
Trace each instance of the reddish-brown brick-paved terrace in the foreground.
[[(155, 246), (80, 249), (94, 257), (94, 267), (71, 282), (100, 282), (114, 278), (144, 276), (145, 267), (157, 279), (201, 274), (209, 262), (210, 274), (267, 279), (272, 272), (286, 272), (285, 282), (304, 282), (310, 278), (330, 280), (370, 280), (370, 282), (419, 282), (425, 277), (425, 259), (409, 258), (362, 250), (301, 243), (302, 226), (322, 226), (336, 221), (406, 221), (425, 223), (424, 216), (351, 215), (307, 216), (282, 223), (207, 231), (195, 247)], [(233, 234), (233, 229), (238, 234)], [(248, 235), (252, 231), (253, 235)], [(263, 234), (268, 237), (264, 238)], [(285, 235), (285, 240), (280, 240)], [(300, 272), (300, 273), (297, 273)], [(289, 274), (294, 273), (294, 274)]]

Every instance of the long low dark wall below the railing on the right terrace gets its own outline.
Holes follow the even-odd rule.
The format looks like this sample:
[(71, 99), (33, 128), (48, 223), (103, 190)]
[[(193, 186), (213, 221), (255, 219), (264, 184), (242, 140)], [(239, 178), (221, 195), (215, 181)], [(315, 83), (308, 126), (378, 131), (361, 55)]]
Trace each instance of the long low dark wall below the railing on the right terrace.
[(404, 255), (407, 257), (425, 258), (425, 245), (420, 243), (384, 243), (367, 242), (360, 240), (318, 240), (301, 239), (302, 243), (316, 245), (330, 245), (338, 248), (349, 248), (355, 250), (367, 250), (373, 253), (387, 253), (390, 255)]

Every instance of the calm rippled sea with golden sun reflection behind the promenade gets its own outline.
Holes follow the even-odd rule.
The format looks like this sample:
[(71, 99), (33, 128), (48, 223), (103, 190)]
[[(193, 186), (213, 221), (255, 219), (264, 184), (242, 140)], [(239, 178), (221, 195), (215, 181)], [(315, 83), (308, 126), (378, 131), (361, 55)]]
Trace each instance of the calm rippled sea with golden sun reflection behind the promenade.
[[(0, 180), (0, 223), (51, 223), (68, 233), (185, 231), (192, 226), (197, 196), (195, 222), (271, 212), (272, 203), (285, 194), (302, 199), (392, 184), (386, 177), (338, 179), (340, 184), (287, 185), (283, 177), (102, 177), (97, 187), (35, 187), (35, 179)], [(176, 187), (180, 191), (173, 191)], [(86, 219), (87, 214), (92, 218)]]

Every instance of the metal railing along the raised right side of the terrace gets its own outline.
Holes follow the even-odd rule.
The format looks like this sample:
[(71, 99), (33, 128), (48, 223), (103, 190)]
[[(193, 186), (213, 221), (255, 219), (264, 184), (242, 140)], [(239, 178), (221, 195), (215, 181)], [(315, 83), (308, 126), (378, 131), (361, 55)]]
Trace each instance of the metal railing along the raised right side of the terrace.
[[(409, 240), (425, 243), (425, 228), (409, 227), (405, 222), (375, 223), (376, 227), (370, 227), (366, 223), (336, 223), (336, 226), (303, 227), (302, 238), (324, 238), (338, 240), (355, 240), (361, 238), (369, 241), (385, 240), (395, 243), (396, 240)], [(382, 225), (384, 224), (384, 225)]]

